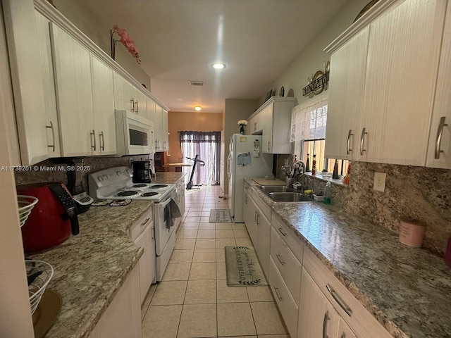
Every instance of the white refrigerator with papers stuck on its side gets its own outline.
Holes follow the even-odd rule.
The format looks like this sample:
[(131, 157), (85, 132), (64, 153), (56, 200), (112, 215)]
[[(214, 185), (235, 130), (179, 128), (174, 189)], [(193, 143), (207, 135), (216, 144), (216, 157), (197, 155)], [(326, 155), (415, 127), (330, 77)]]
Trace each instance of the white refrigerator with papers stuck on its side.
[(235, 223), (243, 223), (245, 177), (265, 177), (273, 171), (273, 155), (261, 151), (261, 136), (233, 134), (227, 158), (228, 208)]

